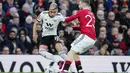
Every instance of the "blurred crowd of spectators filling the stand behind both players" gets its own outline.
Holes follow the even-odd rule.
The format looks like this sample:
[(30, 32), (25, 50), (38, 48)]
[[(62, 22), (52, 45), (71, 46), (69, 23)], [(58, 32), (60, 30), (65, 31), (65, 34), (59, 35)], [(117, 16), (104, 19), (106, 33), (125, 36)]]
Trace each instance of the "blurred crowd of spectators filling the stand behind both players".
[[(37, 26), (37, 42), (32, 40), (37, 16), (56, 2), (59, 12), (67, 17), (75, 14), (80, 0), (0, 0), (0, 54), (38, 55), (42, 25)], [(130, 55), (130, 0), (90, 0), (96, 17), (95, 45), (82, 55)], [(75, 20), (70, 26), (58, 27), (58, 36), (65, 51), (80, 35)], [(57, 54), (53, 44), (49, 52)]]

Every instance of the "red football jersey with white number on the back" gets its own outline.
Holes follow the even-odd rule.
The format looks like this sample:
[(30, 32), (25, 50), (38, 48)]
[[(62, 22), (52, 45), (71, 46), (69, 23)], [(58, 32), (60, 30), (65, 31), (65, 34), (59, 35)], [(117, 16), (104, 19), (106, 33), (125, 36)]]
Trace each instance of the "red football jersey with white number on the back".
[(78, 18), (80, 22), (81, 34), (85, 34), (89, 36), (90, 38), (96, 40), (94, 14), (88, 9), (79, 10), (75, 15), (67, 17), (65, 19), (65, 22), (70, 22), (76, 18)]

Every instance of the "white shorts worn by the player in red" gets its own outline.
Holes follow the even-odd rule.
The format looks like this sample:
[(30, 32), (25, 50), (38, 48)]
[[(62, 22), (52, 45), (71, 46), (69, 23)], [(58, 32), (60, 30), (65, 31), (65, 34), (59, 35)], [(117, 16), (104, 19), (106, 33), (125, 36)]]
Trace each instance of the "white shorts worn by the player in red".
[(84, 53), (89, 48), (92, 48), (96, 40), (91, 39), (87, 35), (81, 34), (72, 44), (71, 50), (76, 53)]

